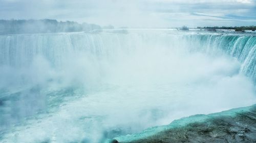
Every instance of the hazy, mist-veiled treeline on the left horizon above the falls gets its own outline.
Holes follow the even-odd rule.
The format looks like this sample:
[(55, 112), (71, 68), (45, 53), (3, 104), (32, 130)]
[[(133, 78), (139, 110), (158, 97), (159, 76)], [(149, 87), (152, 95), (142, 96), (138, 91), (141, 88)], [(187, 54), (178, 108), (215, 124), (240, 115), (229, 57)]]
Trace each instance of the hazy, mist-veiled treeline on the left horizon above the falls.
[(74, 21), (42, 20), (0, 20), (0, 34), (18, 33), (55, 33), (55, 32), (89, 32), (101, 29), (100, 26)]

